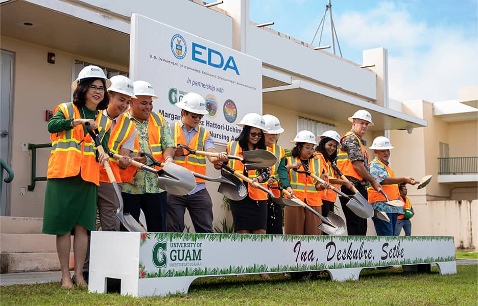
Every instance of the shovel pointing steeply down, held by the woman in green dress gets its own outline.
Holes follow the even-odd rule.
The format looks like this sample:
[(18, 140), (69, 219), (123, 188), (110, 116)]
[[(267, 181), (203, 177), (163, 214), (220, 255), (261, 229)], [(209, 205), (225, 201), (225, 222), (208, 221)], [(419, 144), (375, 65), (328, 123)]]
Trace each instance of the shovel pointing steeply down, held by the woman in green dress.
[[(94, 145), (97, 147), (98, 152), (100, 154), (104, 154), (105, 150), (103, 149), (103, 146), (101, 145), (100, 142), (100, 135), (98, 130), (93, 131), (91, 129), (91, 126), (89, 123), (85, 124), (86, 130), (88, 131), (88, 134), (91, 136), (91, 138), (94, 141)], [(113, 171), (111, 170), (109, 162), (106, 162), (105, 165), (105, 170), (106, 173), (108, 174), (108, 179), (111, 182), (111, 185), (113, 185), (114, 193), (116, 194), (116, 199), (118, 200), (118, 203), (120, 204), (118, 209), (116, 210), (116, 217), (120, 219), (121, 224), (125, 226), (125, 228), (129, 232), (146, 232), (146, 229), (141, 226), (141, 224), (136, 221), (136, 219), (133, 218), (133, 216), (130, 215), (130, 213), (123, 213), (123, 197), (121, 196), (121, 188), (118, 186), (118, 183), (116, 183), (116, 179), (114, 177)]]

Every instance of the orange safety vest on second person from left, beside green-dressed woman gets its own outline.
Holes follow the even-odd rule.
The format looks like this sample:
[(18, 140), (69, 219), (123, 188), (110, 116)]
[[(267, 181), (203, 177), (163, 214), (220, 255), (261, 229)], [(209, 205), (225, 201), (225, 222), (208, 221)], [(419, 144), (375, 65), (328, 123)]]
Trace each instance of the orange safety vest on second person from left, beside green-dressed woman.
[[(113, 129), (110, 131), (110, 137), (108, 140), (109, 150), (115, 154), (119, 154), (123, 144), (133, 134), (135, 128), (136, 124), (133, 122), (133, 120), (128, 118), (128, 116), (125, 114), (121, 114), (116, 120), (116, 124), (113, 126)], [(109, 159), (109, 163), (117, 183), (133, 181), (134, 174), (138, 168), (130, 166), (124, 170), (120, 169), (120, 166), (118, 166), (116, 160), (111, 157)], [(108, 174), (104, 168), (100, 169), (100, 182), (110, 183)]]

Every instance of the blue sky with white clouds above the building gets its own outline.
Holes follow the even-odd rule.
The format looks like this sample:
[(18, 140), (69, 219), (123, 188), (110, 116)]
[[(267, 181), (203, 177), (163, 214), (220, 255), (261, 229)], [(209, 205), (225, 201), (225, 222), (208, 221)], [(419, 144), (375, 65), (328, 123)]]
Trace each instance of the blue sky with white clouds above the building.
[[(344, 58), (361, 64), (362, 50), (388, 49), (391, 98), (456, 99), (459, 87), (478, 85), (478, 0), (331, 3)], [(274, 21), (270, 28), (310, 43), (326, 4), (327, 0), (250, 0), (250, 20)], [(329, 29), (327, 12), (321, 45), (330, 44)]]

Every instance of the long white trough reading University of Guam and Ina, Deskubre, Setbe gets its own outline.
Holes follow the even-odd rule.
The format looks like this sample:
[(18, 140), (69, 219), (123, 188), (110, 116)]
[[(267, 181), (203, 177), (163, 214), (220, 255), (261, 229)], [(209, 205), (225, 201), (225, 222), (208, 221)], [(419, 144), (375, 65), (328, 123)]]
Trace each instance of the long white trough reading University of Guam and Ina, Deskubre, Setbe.
[(92, 232), (89, 291), (121, 279), (121, 294), (187, 292), (197, 277), (326, 270), (358, 279), (363, 268), (437, 263), (456, 273), (453, 237), (299, 236)]

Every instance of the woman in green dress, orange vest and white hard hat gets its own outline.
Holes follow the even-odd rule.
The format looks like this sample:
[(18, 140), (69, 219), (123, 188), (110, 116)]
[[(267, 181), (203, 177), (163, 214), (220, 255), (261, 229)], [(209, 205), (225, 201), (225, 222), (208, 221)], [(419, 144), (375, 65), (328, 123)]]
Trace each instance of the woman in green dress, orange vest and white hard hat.
[[(100, 163), (107, 161), (108, 156), (95, 155), (95, 147), (85, 124), (88, 122), (93, 129), (99, 129), (102, 142), (105, 141), (105, 132), (111, 122), (100, 110), (108, 106), (108, 94), (105, 92), (110, 84), (101, 68), (83, 68), (71, 85), (74, 89), (73, 103), (57, 106), (48, 122), (53, 149), (48, 162), (42, 233), (57, 237), (61, 287), (64, 288), (71, 288), (74, 283), (86, 286), (82, 270), (87, 231), (94, 230)], [(73, 278), (69, 272), (70, 232), (75, 236)]]

